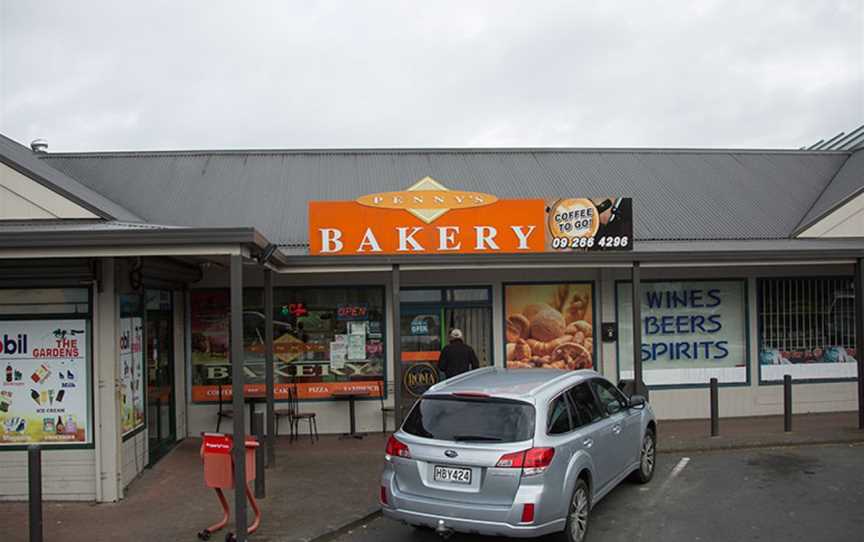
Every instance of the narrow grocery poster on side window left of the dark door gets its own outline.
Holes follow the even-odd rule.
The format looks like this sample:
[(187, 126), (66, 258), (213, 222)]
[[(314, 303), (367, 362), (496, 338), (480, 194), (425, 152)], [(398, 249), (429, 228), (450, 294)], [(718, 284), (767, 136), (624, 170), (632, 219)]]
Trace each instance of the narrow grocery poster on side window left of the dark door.
[(143, 326), (140, 317), (120, 319), (120, 409), (124, 436), (144, 425)]

